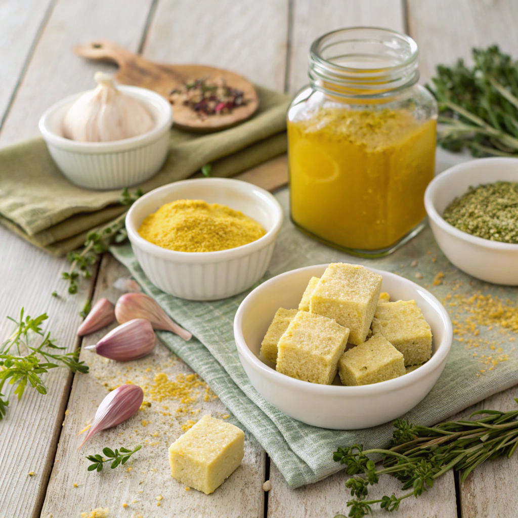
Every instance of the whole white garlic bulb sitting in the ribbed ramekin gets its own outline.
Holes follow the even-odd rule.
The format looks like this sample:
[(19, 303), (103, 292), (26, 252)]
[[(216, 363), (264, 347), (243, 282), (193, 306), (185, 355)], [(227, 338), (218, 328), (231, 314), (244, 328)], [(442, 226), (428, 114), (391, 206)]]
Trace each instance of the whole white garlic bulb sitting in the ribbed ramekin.
[(63, 118), (63, 136), (82, 142), (131, 138), (151, 130), (153, 117), (135, 97), (117, 90), (110, 76), (95, 74), (98, 87), (86, 92)]

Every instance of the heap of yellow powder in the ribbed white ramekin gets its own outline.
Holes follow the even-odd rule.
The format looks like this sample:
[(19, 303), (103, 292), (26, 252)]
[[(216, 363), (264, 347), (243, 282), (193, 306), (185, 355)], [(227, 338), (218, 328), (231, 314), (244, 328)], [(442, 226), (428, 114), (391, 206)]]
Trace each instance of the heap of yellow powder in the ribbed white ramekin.
[(138, 233), (149, 242), (177, 252), (215, 252), (240, 247), (263, 237), (260, 223), (226, 205), (178, 199), (162, 205)]

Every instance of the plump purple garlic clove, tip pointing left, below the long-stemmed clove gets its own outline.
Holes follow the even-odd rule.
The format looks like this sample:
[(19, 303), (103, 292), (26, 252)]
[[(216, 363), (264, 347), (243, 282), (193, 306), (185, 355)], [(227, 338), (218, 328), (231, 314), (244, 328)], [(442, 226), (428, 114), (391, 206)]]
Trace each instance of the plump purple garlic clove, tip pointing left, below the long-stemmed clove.
[(99, 356), (117, 362), (129, 362), (149, 354), (156, 345), (156, 335), (149, 320), (133, 319), (112, 329), (95, 346), (84, 349), (95, 350)]

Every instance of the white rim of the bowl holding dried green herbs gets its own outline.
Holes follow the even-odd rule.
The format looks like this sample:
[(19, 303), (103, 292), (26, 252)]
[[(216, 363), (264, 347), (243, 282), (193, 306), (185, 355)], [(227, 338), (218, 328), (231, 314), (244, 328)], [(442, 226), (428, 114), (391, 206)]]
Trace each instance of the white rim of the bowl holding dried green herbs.
[[(518, 177), (518, 159), (511, 157), (486, 157), (481, 159), (473, 159), (467, 162), (462, 162), (461, 164), (456, 164), (445, 171), (439, 173), (427, 186), (426, 191), (424, 193), (424, 206), (428, 217), (438, 225), (443, 231), (451, 234), (457, 239), (462, 239), (463, 241), (467, 241), (471, 244), (476, 244), (479, 247), (484, 247), (493, 250), (506, 250), (512, 252), (518, 252), (518, 244), (513, 243), (503, 243), (501, 241), (491, 241), (490, 239), (484, 239), (478, 236), (472, 236), (467, 232), (463, 232), (458, 228), (454, 227), (447, 221), (445, 221), (442, 216), (439, 214), (438, 210), (435, 208), (434, 198), (441, 188), (444, 188), (444, 184), (448, 182), (451, 178), (463, 174), (466, 170), (472, 169), (473, 166), (478, 167), (479, 165), (483, 166), (487, 164), (490, 167), (495, 163), (504, 164), (504, 163), (514, 163), (517, 167), (516, 175)], [(516, 179), (518, 181), (518, 178)], [(498, 181), (498, 180), (494, 180)], [(466, 191), (469, 188), (469, 183), (466, 185)], [(453, 198), (452, 198), (453, 200)]]

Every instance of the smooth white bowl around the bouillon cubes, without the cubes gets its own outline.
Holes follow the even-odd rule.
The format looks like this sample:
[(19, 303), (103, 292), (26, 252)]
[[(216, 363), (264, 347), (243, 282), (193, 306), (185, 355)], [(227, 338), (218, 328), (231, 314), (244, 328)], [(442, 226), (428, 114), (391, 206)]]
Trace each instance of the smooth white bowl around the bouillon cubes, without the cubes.
[(239, 359), (252, 385), (269, 403), (290, 417), (313, 426), (357, 429), (398, 418), (417, 405), (434, 386), (452, 344), (452, 325), (442, 304), (418, 284), (387, 271), (382, 290), (392, 300), (414, 299), (434, 335), (428, 362), (404, 376), (362, 386), (319, 385), (285, 376), (258, 355), (261, 341), (278, 308), (296, 308), (312, 276), (328, 265), (308, 266), (278, 275), (256, 287), (241, 303), (234, 319)]

